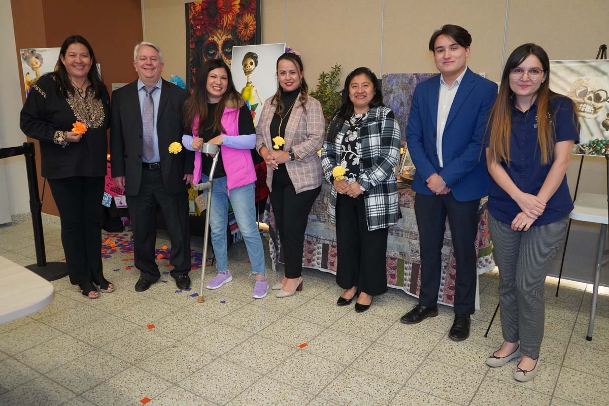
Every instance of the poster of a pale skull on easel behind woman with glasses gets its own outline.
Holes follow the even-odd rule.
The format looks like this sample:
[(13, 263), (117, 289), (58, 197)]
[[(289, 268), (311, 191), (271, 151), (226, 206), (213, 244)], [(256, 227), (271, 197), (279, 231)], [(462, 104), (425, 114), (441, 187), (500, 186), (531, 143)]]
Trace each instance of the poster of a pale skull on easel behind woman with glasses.
[(573, 100), (580, 142), (609, 139), (609, 61), (551, 61), (550, 88)]

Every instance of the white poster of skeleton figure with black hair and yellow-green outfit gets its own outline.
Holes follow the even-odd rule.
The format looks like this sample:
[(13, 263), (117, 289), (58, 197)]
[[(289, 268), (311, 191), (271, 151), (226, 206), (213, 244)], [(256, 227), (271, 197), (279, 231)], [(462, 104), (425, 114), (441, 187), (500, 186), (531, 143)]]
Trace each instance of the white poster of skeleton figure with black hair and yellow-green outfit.
[(236, 46), (233, 48), (234, 87), (252, 111), (254, 123), (256, 113), (262, 111), (265, 100), (277, 91), (276, 63), (286, 50), (285, 43)]

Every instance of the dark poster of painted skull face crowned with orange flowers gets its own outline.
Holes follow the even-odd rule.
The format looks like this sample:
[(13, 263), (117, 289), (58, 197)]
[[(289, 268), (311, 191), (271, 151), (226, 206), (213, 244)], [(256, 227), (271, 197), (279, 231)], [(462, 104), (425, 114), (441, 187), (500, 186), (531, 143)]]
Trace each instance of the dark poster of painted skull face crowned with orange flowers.
[(230, 66), (233, 46), (261, 42), (260, 0), (193, 1), (185, 9), (188, 89), (205, 61), (222, 58)]

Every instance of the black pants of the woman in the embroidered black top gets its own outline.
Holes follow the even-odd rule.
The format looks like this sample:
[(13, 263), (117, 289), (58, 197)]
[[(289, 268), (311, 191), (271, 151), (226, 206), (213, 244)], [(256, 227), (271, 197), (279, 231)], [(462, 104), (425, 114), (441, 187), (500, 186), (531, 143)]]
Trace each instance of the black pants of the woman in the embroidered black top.
[(104, 177), (49, 179), (71, 284), (101, 282)]

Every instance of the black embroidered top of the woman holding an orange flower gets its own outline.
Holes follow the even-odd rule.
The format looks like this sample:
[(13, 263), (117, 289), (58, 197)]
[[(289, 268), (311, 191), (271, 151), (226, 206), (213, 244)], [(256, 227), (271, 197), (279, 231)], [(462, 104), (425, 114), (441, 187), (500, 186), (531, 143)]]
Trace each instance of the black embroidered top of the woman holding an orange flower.
[[(85, 97), (76, 91), (64, 97), (52, 74), (33, 83), (19, 124), (27, 136), (40, 141), (43, 177), (106, 175), (110, 97), (103, 89), (100, 99), (92, 86), (86, 89)], [(66, 143), (64, 131), (71, 131), (76, 121), (86, 125), (86, 133), (79, 142)]]

